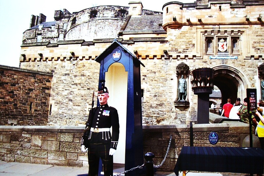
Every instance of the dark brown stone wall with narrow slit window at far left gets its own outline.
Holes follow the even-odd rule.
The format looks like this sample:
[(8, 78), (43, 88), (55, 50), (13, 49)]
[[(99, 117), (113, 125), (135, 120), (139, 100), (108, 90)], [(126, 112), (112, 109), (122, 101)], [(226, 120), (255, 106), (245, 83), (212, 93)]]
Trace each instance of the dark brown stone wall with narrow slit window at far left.
[(0, 65), (0, 125), (47, 125), (52, 78), (50, 73)]

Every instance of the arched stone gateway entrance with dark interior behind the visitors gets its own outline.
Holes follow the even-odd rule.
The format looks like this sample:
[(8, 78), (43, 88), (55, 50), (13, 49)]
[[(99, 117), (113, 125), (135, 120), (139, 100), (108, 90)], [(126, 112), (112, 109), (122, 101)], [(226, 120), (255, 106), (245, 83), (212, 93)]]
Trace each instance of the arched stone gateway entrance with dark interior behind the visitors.
[(228, 98), (231, 99), (232, 104), (238, 97), (243, 101), (249, 85), (245, 75), (231, 65), (216, 65), (212, 68), (214, 69), (214, 85), (221, 91), (222, 106), (227, 103)]

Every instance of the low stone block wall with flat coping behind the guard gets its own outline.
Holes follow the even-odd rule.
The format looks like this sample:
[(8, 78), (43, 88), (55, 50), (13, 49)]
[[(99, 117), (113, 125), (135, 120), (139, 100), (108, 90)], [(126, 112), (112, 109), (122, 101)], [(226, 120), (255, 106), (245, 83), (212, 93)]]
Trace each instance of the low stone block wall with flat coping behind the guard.
[[(80, 146), (83, 129), (84, 126), (0, 126), (0, 160), (88, 167), (87, 153)], [(154, 153), (154, 165), (159, 165), (172, 135), (167, 159), (158, 170), (173, 171), (182, 146), (190, 145), (189, 131), (189, 125), (143, 126), (142, 155)], [(193, 131), (194, 146), (213, 146), (208, 136), (215, 131), (219, 136), (215, 146), (242, 147), (249, 125), (242, 122), (194, 124)]]

